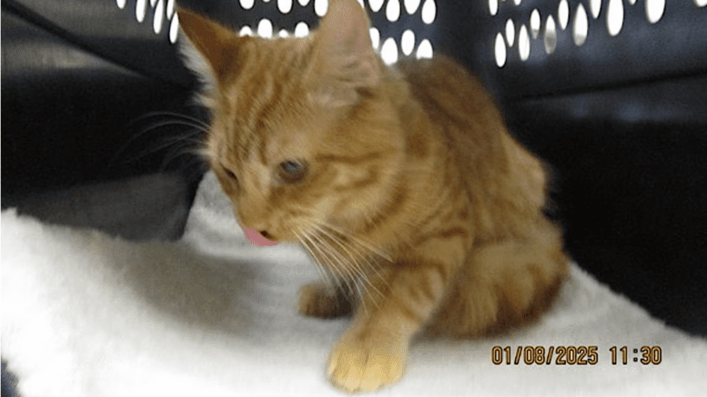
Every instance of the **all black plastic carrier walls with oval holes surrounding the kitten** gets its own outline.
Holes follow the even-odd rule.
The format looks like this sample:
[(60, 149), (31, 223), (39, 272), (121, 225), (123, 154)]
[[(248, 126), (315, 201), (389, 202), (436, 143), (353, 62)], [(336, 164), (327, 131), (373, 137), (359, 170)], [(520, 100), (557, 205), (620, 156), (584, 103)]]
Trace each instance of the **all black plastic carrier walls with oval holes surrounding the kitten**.
[[(707, 335), (707, 1), (359, 3), (387, 63), (442, 53), (480, 76), (512, 134), (550, 164), (549, 211), (581, 268), (669, 326)], [(308, 35), (327, 10), (326, 0), (179, 4), (265, 36)], [(175, 8), (2, 0), (4, 212), (179, 240), (207, 171), (196, 154), (207, 114), (177, 54)], [(11, 395), (21, 380), (3, 360)]]

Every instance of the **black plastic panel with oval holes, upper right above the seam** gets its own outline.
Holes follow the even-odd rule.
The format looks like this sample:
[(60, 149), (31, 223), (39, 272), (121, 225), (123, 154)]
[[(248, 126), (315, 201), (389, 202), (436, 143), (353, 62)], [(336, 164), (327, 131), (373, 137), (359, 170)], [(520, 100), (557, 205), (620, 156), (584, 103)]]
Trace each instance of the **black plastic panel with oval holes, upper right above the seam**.
[[(607, 0), (601, 0), (598, 19), (591, 16), (589, 0), (569, 0), (570, 22), (557, 28), (557, 47), (546, 54), (543, 45), (548, 15), (557, 24), (560, 1), (499, 1), (497, 15), (491, 15), (488, 0), (447, 2), (439, 6), (439, 23), (449, 26), (440, 35), (440, 45), (454, 52), (481, 74), (503, 100), (576, 94), (613, 88), (617, 85), (650, 82), (666, 78), (707, 73), (707, 7), (690, 0), (668, 1), (662, 18), (648, 22), (643, 1), (623, 1), (624, 18), (616, 36), (607, 31)], [(582, 4), (589, 18), (589, 32), (583, 45), (572, 38), (577, 6)], [(521, 25), (530, 29), (530, 14), (540, 12), (541, 28), (530, 38), (530, 57), (521, 61), (518, 35)], [(495, 61), (496, 35), (505, 35), (505, 25), (515, 25), (514, 45), (506, 51), (506, 65)]]

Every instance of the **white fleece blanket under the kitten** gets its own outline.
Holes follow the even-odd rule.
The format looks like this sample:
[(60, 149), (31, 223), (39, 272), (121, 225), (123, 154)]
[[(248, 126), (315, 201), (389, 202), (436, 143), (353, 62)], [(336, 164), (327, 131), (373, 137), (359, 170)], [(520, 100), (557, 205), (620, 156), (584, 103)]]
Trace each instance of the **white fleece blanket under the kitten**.
[[(621, 266), (621, 263), (615, 263)], [(347, 319), (295, 311), (316, 277), (296, 246), (250, 246), (212, 174), (177, 243), (2, 213), (2, 355), (33, 396), (342, 395), (325, 375)], [(492, 362), (510, 347), (510, 364)], [(519, 346), (597, 346), (596, 364), (526, 364)], [(628, 348), (628, 363), (610, 348)], [(661, 348), (659, 364), (641, 346)], [(571, 356), (566, 358), (572, 361)], [(383, 396), (699, 396), (707, 340), (651, 318), (577, 265), (540, 322), (477, 341), (419, 341)]]

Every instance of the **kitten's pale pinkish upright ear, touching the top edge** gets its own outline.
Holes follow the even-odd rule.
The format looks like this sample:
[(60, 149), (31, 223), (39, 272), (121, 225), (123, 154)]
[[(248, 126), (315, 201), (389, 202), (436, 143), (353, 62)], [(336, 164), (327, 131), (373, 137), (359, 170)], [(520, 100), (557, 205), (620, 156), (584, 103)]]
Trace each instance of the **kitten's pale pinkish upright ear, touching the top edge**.
[(327, 95), (352, 102), (358, 88), (379, 83), (382, 71), (370, 42), (369, 17), (356, 0), (329, 2), (315, 46), (312, 75), (319, 76), (318, 84), (325, 85)]

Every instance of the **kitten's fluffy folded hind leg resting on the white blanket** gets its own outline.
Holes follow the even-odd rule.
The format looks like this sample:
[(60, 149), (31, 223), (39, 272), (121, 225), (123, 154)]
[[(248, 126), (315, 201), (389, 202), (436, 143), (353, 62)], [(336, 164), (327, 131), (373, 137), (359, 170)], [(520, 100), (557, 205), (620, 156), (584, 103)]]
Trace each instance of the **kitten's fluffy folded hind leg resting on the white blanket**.
[(560, 230), (546, 220), (529, 239), (479, 247), (449, 285), (428, 331), (478, 337), (528, 323), (560, 291), (568, 261)]

